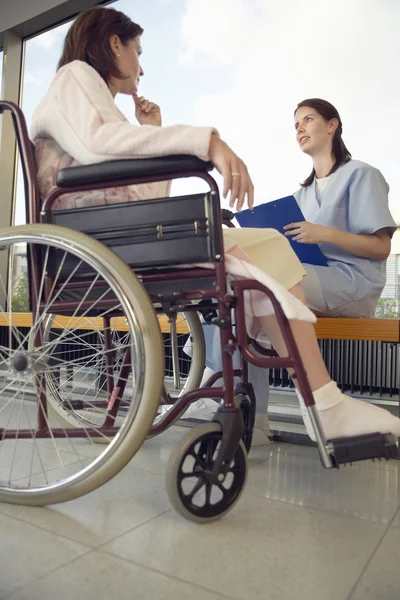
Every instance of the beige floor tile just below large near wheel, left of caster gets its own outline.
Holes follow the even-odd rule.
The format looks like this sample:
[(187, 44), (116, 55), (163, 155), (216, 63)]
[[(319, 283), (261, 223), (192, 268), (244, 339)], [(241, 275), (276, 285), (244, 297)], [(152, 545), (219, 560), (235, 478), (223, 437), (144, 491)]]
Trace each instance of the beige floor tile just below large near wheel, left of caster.
[(86, 496), (52, 507), (0, 504), (0, 512), (96, 547), (170, 510), (162, 475), (124, 469)]

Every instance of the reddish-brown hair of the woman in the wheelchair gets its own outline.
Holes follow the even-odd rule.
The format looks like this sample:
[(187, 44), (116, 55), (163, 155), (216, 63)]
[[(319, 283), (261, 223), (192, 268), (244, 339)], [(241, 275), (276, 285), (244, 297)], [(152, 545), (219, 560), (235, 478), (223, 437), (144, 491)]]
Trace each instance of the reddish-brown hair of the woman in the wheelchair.
[(82, 60), (96, 69), (107, 84), (111, 77), (123, 79), (109, 39), (117, 35), (125, 45), (142, 33), (140, 25), (114, 8), (88, 8), (71, 25), (57, 70), (73, 60)]

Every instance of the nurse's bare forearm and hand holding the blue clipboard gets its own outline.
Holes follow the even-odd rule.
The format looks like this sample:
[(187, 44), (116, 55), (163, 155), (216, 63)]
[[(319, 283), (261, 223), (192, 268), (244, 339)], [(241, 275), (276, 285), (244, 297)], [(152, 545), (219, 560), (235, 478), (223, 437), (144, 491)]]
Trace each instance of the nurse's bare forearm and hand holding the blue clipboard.
[(343, 248), (343, 250), (355, 256), (375, 260), (386, 260), (390, 254), (391, 235), (388, 227), (379, 229), (375, 233), (359, 234), (301, 221), (290, 223), (284, 229), (286, 230), (286, 236), (293, 236), (293, 239), (301, 244), (321, 244), (325, 242)]

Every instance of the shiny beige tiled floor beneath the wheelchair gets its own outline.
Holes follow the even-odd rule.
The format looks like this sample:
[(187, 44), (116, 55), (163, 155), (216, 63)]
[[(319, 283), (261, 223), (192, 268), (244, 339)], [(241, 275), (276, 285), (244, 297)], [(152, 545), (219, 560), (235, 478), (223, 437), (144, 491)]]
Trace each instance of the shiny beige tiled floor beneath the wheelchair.
[(165, 493), (187, 431), (83, 498), (0, 505), (0, 599), (399, 599), (400, 463), (325, 471), (313, 448), (256, 447), (237, 506), (199, 526)]

